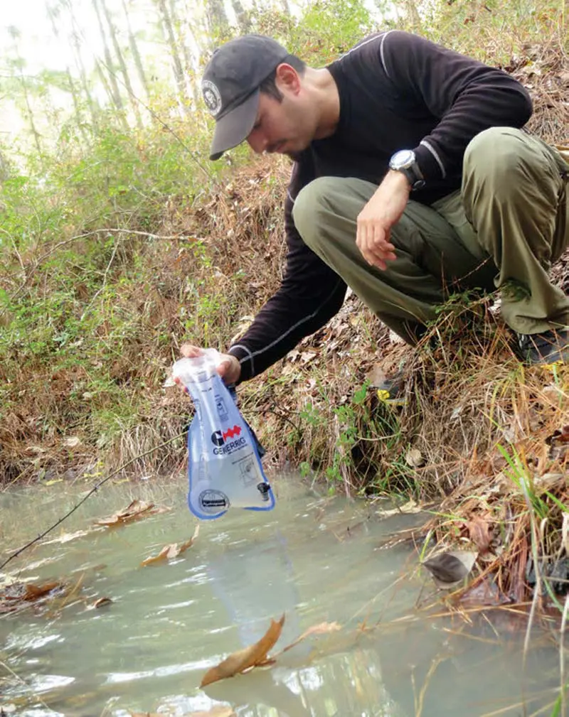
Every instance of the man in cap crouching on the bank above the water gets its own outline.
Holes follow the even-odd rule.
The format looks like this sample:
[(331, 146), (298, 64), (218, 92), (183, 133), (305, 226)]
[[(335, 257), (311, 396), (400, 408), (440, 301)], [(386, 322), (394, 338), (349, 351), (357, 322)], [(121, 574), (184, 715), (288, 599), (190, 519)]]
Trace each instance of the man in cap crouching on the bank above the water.
[(286, 272), (223, 355), (227, 383), (323, 326), (347, 286), (411, 344), (449, 293), (498, 288), (522, 360), (569, 357), (569, 298), (547, 275), (569, 243), (569, 166), (520, 129), (532, 105), (519, 82), (390, 30), (324, 69), (240, 37), (213, 54), (202, 90), (211, 159), (246, 140), (294, 161)]

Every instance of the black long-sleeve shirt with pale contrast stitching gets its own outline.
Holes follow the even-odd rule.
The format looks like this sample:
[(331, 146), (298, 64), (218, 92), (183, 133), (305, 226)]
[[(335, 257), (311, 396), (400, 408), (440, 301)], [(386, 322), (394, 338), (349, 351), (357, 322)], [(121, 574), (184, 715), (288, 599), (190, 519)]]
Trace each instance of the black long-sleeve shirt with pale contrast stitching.
[(342, 306), (344, 281), (304, 244), (292, 218), (298, 192), (319, 176), (380, 184), (393, 153), (413, 149), (426, 184), (413, 199), (431, 204), (461, 186), (466, 146), (489, 127), (522, 127), (532, 103), (502, 70), (407, 32), (362, 40), (327, 67), (337, 84), (339, 123), (297, 158), (285, 201), (288, 254), (281, 287), (230, 348), (240, 380), (274, 364)]

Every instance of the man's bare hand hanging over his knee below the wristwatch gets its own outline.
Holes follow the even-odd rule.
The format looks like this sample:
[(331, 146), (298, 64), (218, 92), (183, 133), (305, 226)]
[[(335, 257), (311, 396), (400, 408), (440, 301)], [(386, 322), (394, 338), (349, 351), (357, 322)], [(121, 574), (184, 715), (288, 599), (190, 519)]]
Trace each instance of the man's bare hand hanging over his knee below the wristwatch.
[(359, 212), (356, 244), (368, 264), (385, 270), (387, 261), (396, 258), (390, 243), (391, 227), (401, 219), (410, 189), (404, 174), (390, 170)]

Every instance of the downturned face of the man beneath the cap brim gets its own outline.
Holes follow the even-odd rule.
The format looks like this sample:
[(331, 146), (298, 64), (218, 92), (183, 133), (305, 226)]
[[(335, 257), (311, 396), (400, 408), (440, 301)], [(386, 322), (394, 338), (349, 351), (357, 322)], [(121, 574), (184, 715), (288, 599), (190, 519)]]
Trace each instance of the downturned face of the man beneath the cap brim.
[(316, 125), (301, 92), (288, 86), (279, 89), (283, 93), (282, 102), (260, 93), (257, 118), (247, 141), (258, 153), (278, 152), (294, 156), (314, 139)]

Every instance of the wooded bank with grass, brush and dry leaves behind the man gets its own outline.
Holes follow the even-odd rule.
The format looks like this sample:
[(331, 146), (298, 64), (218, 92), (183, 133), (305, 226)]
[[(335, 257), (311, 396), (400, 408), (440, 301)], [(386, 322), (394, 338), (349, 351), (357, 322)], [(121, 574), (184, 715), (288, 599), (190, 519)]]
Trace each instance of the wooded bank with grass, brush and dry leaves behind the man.
[[(321, 66), (367, 32), (418, 32), (512, 72), (534, 100), (529, 129), (569, 144), (564, 0), (18, 10), (0, 35), (4, 488), (179, 475), (192, 416), (169, 385), (180, 344), (225, 348), (278, 286), (290, 163), (247, 147), (207, 160), (199, 77), (220, 42), (269, 34)], [(555, 272), (569, 288), (566, 257)], [(537, 518), (545, 564), (569, 534), (569, 373), (519, 364), (495, 299), (453, 297), (431, 327), (438, 348), (427, 336), (410, 351), (352, 295), (240, 401), (268, 467), (330, 493), (442, 500), (428, 529), (507, 545), (501, 587), (521, 599)], [(386, 403), (377, 385), (403, 361), (403, 400)]]

